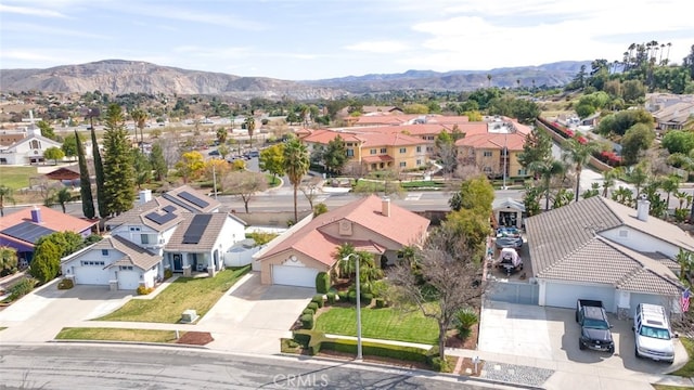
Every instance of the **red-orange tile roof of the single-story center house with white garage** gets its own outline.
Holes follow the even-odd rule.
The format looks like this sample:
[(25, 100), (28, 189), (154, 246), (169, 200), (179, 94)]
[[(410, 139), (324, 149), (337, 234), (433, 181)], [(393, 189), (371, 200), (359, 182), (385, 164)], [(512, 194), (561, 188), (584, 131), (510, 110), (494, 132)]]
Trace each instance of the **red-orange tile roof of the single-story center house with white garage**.
[[(320, 214), (298, 230), (287, 231), (286, 234), (290, 236), (269, 248), (259, 260), (262, 261), (281, 252), (298, 251), (332, 266), (335, 263), (333, 253), (344, 243), (350, 243), (360, 248), (373, 247), (370, 251), (381, 253), (385, 249), (399, 249), (388, 248), (389, 242), (400, 246), (412, 245), (426, 234), (428, 219), (393, 203), (390, 203), (390, 216), (386, 217), (381, 212), (382, 205), (383, 199), (371, 195)], [(340, 221), (349, 221), (367, 230), (371, 238), (350, 239), (349, 236), (331, 235), (327, 226), (339, 224)]]

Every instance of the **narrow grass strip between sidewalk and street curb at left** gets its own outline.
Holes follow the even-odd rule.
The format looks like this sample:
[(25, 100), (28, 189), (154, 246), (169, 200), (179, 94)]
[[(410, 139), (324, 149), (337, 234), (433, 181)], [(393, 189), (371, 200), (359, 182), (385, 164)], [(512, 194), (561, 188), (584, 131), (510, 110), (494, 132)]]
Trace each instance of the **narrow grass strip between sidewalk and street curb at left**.
[[(184, 332), (179, 333), (179, 337)], [(175, 342), (175, 330), (119, 329), (119, 328), (70, 328), (66, 327), (55, 336), (56, 340), (111, 340), (111, 341), (145, 341)]]

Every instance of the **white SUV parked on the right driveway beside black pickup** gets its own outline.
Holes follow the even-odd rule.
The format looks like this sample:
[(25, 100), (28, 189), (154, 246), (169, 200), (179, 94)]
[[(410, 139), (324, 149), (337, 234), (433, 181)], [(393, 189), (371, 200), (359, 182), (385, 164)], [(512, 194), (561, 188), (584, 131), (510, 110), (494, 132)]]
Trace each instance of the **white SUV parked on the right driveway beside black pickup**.
[(672, 338), (665, 308), (657, 304), (639, 303), (633, 317), (637, 358), (648, 358), (671, 364), (674, 361)]

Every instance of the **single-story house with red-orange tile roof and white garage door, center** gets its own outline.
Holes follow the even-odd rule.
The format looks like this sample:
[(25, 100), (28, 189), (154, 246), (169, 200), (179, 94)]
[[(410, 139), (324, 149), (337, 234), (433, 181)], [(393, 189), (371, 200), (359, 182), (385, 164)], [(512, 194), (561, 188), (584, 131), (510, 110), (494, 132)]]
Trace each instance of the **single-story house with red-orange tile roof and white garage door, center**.
[(429, 220), (371, 195), (318, 217), (309, 216), (254, 255), (262, 284), (314, 287), (319, 272), (330, 272), (337, 248), (349, 243), (393, 263), (404, 246), (426, 236)]

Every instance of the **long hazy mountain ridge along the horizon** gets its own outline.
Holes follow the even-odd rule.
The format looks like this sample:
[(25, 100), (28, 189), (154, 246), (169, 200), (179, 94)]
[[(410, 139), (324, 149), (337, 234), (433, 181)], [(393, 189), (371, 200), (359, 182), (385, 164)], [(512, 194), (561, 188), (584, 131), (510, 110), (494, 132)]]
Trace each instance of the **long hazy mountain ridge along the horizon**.
[(402, 74), (349, 76), (325, 80), (290, 81), (267, 77), (240, 77), (221, 73), (188, 70), (140, 61), (105, 60), (48, 69), (2, 69), (0, 88), (7, 91), (37, 90), (53, 93), (102, 91), (110, 94), (164, 93), (166, 95), (229, 95), (237, 99), (282, 96), (295, 100), (333, 99), (348, 93), (393, 90), (464, 91), (491, 86), (563, 86), (581, 65), (561, 62), (540, 66), (491, 70), (408, 70)]

